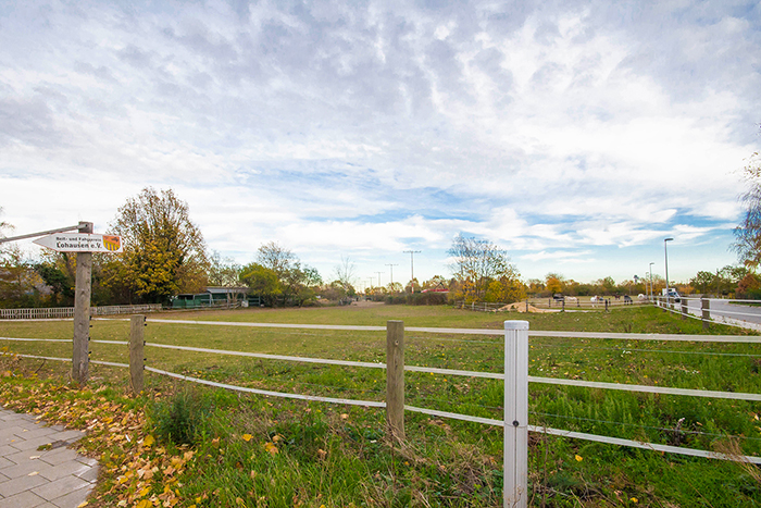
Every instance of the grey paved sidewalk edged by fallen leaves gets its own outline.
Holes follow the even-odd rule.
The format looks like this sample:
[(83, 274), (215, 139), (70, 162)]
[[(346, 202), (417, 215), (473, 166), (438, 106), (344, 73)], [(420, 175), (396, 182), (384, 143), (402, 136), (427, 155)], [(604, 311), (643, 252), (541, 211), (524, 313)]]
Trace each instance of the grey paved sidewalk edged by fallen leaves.
[[(0, 508), (76, 508), (98, 479), (98, 461), (67, 446), (84, 436), (0, 408)], [(38, 450), (50, 445), (50, 449)]]

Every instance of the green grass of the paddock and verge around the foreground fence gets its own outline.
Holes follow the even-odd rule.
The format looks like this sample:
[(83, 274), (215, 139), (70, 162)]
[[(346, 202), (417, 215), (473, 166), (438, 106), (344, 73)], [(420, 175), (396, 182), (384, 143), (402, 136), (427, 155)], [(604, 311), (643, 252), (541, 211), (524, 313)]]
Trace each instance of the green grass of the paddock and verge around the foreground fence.
[[(402, 320), (406, 326), (495, 330), (501, 330), (506, 319), (521, 319), (528, 320), (532, 330), (702, 333), (700, 322), (682, 321), (650, 307), (609, 313), (517, 314), (445, 307), (352, 306), (163, 313), (155, 318), (378, 326), (388, 320)], [(0, 322), (0, 335), (10, 337), (70, 338), (71, 330), (71, 322), (65, 321)], [(743, 332), (712, 326), (710, 333)], [(127, 340), (128, 334), (127, 321), (92, 322), (93, 340)], [(146, 339), (149, 344), (385, 362), (385, 332), (149, 322)], [(759, 393), (761, 388), (759, 344), (545, 337), (532, 337), (529, 344), (529, 375), (725, 392)], [(10, 343), (10, 349), (15, 354), (71, 356), (67, 344), (15, 342)], [(93, 360), (127, 362), (126, 346), (93, 343), (90, 349)], [(385, 372), (380, 369), (150, 346), (146, 357), (151, 367), (240, 386), (362, 400), (384, 398)], [(55, 386), (61, 386), (60, 380), (70, 368), (10, 357), (0, 362), (0, 372), (10, 374), (3, 377), (3, 398), (23, 400), (27, 409), (37, 404), (30, 391), (41, 391), (39, 398), (40, 393), (52, 389), (35, 388), (34, 383), (40, 382), (30, 381), (30, 374), (59, 380)], [(501, 372), (502, 338), (408, 332), (406, 363)], [(155, 435), (166, 454), (194, 450), (194, 460), (185, 464), (183, 494), (174, 497), (177, 506), (501, 506), (499, 428), (408, 413), (407, 443), (396, 446), (385, 438), (382, 410), (236, 395), (150, 373), (146, 375), (146, 395), (126, 400), (125, 370), (92, 365), (91, 374), (90, 386), (102, 388), (101, 397), (122, 400), (125, 408), (146, 408), (150, 416), (146, 433)], [(63, 396), (51, 393), (53, 399)], [(76, 398), (72, 391), (65, 396)], [(411, 406), (502, 418), (503, 391), (496, 380), (408, 372), (406, 397)], [(759, 402), (529, 386), (531, 424), (691, 448), (761, 455), (760, 416)], [(183, 441), (191, 447), (180, 448)], [(752, 466), (540, 434), (532, 434), (529, 445), (532, 506), (761, 506), (759, 472)], [(128, 454), (92, 448), (102, 462), (112, 464), (108, 469), (114, 478), (120, 472), (123, 475), (123, 466), (136, 460)], [(109, 485), (105, 481), (101, 488), (102, 506), (111, 506), (108, 503), (117, 498), (128, 500), (125, 506), (139, 506), (149, 498), (149, 493), (135, 497), (139, 490), (129, 497)], [(161, 495), (160, 491), (153, 495)]]

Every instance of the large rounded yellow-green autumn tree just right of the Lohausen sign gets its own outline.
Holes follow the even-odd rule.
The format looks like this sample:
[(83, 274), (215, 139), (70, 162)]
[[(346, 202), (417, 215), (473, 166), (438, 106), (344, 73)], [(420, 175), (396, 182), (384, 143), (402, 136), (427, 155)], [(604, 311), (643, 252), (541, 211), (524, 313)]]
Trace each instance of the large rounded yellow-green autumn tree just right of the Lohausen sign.
[(110, 232), (124, 252), (107, 264), (107, 285), (146, 302), (166, 302), (207, 285), (209, 261), (201, 231), (172, 189), (146, 187), (118, 209)]

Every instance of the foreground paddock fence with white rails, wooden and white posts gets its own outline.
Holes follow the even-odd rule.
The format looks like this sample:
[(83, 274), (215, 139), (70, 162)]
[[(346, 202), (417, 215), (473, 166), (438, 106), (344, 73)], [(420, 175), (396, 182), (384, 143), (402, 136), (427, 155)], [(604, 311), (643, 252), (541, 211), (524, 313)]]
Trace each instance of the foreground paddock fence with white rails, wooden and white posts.
[[(389, 322), (387, 326), (353, 326), (353, 325), (305, 325), (305, 324), (285, 324), (285, 323), (241, 323), (241, 322), (199, 322), (186, 320), (150, 320), (148, 323), (174, 323), (174, 324), (195, 324), (199, 326), (250, 326), (250, 327), (279, 327), (279, 329), (307, 329), (307, 330), (338, 330), (338, 331), (386, 331), (387, 345), (387, 361), (380, 362), (362, 362), (349, 360), (334, 360), (321, 358), (304, 358), (296, 356), (269, 355), (247, 351), (229, 351), (190, 346), (174, 346), (167, 344), (146, 343), (144, 340), (144, 325), (146, 324), (145, 317), (134, 315), (132, 318), (130, 340), (91, 340), (96, 344), (110, 345), (129, 345), (129, 365), (123, 363), (93, 361), (96, 364), (107, 364), (113, 367), (128, 367), (130, 369), (130, 384), (133, 389), (139, 392), (142, 389), (142, 373), (144, 371), (158, 373), (161, 375), (171, 376), (174, 379), (204, 384), (209, 386), (222, 387), (232, 391), (266, 395), (272, 397), (285, 397), (302, 400), (321, 401), (328, 404), (358, 405), (365, 407), (376, 407), (386, 409), (386, 420), (389, 425), (389, 432), (398, 439), (403, 439), (403, 412), (419, 412), (439, 418), (450, 418), (467, 422), (475, 422), (487, 425), (501, 426), (504, 432), (504, 506), (525, 506), (527, 492), (526, 472), (524, 460), (527, 455), (527, 437), (524, 437), (526, 432), (537, 432), (549, 435), (565, 436), (577, 439), (585, 439), (598, 443), (607, 443), (619, 446), (628, 446), (640, 449), (650, 449), (661, 453), (679, 454), (694, 457), (704, 457), (723, 460), (744, 460), (746, 462), (761, 464), (761, 457), (753, 456), (728, 456), (721, 453), (709, 451), (703, 449), (687, 448), (683, 446), (663, 445), (657, 443), (647, 443), (634, 439), (624, 439), (599, 434), (590, 434), (575, 432), (562, 429), (552, 429), (544, 425), (529, 425), (527, 417), (524, 413), (524, 398), (527, 397), (528, 383), (553, 384), (578, 386), (586, 388), (598, 389), (614, 389), (634, 393), (650, 393), (661, 395), (691, 396), (691, 397), (709, 397), (723, 398), (732, 400), (750, 400), (761, 401), (760, 393), (738, 393), (738, 392), (721, 392), (706, 389), (689, 389), (676, 388), (666, 386), (650, 386), (623, 383), (608, 383), (585, 380), (571, 380), (558, 377), (539, 377), (527, 375), (528, 368), (528, 337), (567, 337), (567, 338), (615, 338), (626, 340), (659, 340), (659, 342), (714, 342), (714, 343), (746, 343), (761, 344), (761, 337), (752, 336), (733, 336), (733, 335), (677, 335), (677, 334), (627, 334), (627, 333), (597, 333), (597, 332), (558, 332), (558, 331), (529, 331), (526, 321), (506, 321), (504, 331), (499, 330), (473, 330), (473, 329), (434, 329), (434, 327), (408, 327), (404, 330), (401, 322)], [(396, 323), (396, 324), (395, 324)], [(503, 373), (483, 372), (483, 371), (463, 371), (456, 369), (441, 369), (425, 365), (407, 365), (404, 364), (404, 332), (421, 332), (433, 334), (464, 334), (464, 335), (502, 335), (504, 336), (506, 360)], [(36, 339), (36, 338), (10, 338), (0, 337), (5, 340), (45, 340), (45, 342), (71, 342), (67, 339)], [(307, 362), (317, 364), (345, 365), (354, 368), (371, 368), (385, 369), (387, 372), (386, 400), (358, 400), (348, 398), (322, 397), (315, 395), (303, 395), (295, 393), (283, 393), (274, 391), (265, 391), (250, 387), (236, 386), (225, 383), (216, 383), (203, 379), (192, 377), (179, 373), (170, 372), (163, 369), (145, 365), (144, 347), (155, 347), (163, 349), (174, 349), (192, 352), (233, 355), (267, 360)], [(50, 360), (71, 361), (63, 358), (50, 358), (32, 355), (18, 355), (30, 358), (45, 358)], [(392, 368), (389, 368), (391, 365)], [(449, 411), (440, 411), (431, 408), (420, 408), (404, 404), (404, 372), (424, 372), (437, 373), (456, 376), (469, 377), (487, 377), (504, 381), (504, 417), (502, 420), (474, 417)], [(527, 404), (527, 402), (526, 402)]]

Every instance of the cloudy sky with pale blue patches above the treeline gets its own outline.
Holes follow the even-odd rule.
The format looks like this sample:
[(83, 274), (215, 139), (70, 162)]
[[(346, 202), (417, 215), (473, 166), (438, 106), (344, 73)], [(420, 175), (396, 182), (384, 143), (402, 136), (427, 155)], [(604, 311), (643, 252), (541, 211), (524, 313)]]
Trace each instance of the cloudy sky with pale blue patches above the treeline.
[(578, 282), (673, 237), (687, 281), (736, 262), (760, 103), (758, 1), (0, 0), (0, 221), (104, 233), (151, 186), (360, 286), (458, 234)]

